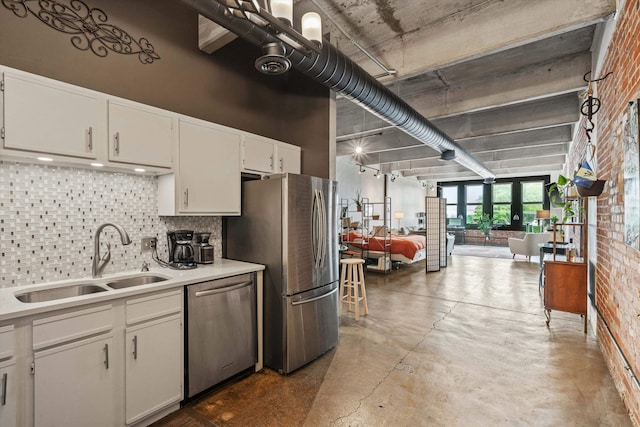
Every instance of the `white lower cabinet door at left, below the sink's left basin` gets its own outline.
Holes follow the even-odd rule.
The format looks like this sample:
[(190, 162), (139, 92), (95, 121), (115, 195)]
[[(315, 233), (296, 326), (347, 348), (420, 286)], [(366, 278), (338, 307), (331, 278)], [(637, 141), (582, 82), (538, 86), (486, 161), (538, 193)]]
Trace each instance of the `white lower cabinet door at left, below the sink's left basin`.
[(113, 337), (34, 353), (35, 426), (114, 425)]

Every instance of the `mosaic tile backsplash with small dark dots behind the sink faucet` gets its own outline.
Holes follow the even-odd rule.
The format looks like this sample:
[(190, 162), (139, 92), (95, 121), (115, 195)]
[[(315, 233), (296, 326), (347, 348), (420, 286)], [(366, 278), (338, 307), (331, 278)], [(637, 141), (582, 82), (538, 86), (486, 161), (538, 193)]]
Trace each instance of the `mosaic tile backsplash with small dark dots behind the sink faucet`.
[(158, 180), (68, 167), (0, 161), (0, 287), (26, 286), (91, 276), (93, 235), (105, 222), (122, 226), (131, 244), (106, 227), (100, 253), (111, 244), (103, 274), (157, 265), (140, 252), (142, 237), (158, 238), (166, 260), (167, 230), (210, 232), (215, 260), (222, 256), (219, 217), (159, 217)]

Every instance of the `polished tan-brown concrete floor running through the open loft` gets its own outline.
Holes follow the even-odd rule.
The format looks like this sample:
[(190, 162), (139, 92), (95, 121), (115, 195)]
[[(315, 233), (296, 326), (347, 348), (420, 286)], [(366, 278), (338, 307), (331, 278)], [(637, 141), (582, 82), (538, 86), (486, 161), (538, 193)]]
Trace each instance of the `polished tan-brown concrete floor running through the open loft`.
[(538, 263), (451, 256), (366, 276), (370, 314), (281, 376), (265, 369), (158, 426), (630, 426), (580, 316), (545, 324)]

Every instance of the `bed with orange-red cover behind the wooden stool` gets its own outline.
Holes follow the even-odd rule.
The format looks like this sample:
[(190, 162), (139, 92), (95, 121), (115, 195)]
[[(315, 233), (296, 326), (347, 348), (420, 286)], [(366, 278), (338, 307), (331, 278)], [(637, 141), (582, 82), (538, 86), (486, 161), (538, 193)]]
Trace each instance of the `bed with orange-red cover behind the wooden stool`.
[[(369, 236), (363, 244), (362, 233), (350, 231), (344, 236), (349, 249), (360, 253), (362, 249), (366, 251), (367, 258), (380, 258), (384, 256), (385, 238)], [(426, 238), (418, 234), (408, 236), (390, 234), (386, 242), (391, 239), (391, 261), (403, 264), (413, 264), (426, 258)]]

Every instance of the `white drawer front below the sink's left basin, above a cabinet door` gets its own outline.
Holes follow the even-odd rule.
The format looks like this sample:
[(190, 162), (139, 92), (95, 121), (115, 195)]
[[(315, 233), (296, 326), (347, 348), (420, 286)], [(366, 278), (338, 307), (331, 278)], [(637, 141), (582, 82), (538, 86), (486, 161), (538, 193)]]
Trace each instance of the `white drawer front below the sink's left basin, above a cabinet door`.
[(49, 347), (111, 330), (111, 304), (33, 321), (33, 349)]

